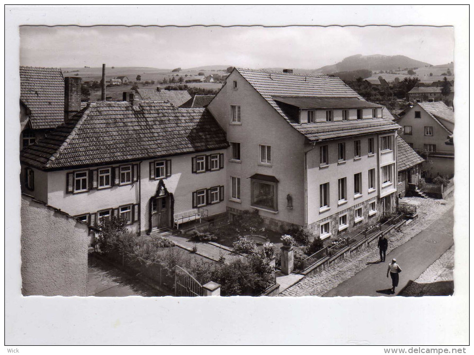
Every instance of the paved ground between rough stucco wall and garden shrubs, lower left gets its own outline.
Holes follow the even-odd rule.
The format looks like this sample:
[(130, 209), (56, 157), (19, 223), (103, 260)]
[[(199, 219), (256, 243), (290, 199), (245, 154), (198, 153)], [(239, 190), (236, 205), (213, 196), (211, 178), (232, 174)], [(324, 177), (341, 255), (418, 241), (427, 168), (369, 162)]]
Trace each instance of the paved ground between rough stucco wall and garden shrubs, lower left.
[(165, 296), (116, 267), (89, 254), (87, 295), (99, 297)]

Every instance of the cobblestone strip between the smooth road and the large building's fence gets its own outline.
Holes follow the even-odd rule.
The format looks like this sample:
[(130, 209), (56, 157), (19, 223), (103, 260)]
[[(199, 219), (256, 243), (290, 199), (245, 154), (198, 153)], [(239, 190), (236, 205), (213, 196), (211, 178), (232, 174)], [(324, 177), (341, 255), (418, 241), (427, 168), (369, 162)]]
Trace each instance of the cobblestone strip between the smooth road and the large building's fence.
[[(428, 228), (454, 205), (453, 194), (449, 195), (446, 200), (405, 197), (402, 201), (417, 205), (419, 216), (415, 221), (403, 227), (401, 232), (395, 232), (388, 236), (387, 254)], [(301, 280), (283, 291), (279, 296), (323, 296), (367, 266), (375, 264), (379, 259), (378, 248), (366, 248), (316, 275)]]

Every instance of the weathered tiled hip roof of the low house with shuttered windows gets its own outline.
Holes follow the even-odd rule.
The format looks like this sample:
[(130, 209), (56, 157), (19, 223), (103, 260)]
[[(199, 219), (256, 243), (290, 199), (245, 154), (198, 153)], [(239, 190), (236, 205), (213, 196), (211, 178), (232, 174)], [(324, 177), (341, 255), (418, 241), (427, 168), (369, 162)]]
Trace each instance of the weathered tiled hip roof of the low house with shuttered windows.
[(23, 149), (20, 160), (40, 169), (93, 166), (223, 149), (224, 131), (204, 108), (141, 101), (92, 102), (45, 138)]

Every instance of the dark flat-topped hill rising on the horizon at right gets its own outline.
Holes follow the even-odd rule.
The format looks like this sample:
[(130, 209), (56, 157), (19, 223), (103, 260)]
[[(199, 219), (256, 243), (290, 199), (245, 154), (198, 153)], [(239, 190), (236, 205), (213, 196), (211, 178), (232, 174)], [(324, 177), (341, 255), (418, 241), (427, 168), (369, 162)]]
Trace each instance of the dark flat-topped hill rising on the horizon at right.
[(421, 68), (431, 64), (411, 59), (404, 55), (362, 55), (356, 54), (344, 58), (336, 64), (327, 65), (314, 71), (314, 74), (330, 74), (340, 71), (356, 71), (366, 69), (370, 71), (388, 71), (403, 68)]

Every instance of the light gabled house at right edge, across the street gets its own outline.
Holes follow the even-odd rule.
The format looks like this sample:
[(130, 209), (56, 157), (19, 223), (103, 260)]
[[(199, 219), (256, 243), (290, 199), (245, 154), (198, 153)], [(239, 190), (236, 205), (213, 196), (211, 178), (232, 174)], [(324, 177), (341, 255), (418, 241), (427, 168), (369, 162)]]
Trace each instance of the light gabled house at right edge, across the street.
[(425, 177), (454, 175), (454, 112), (442, 101), (416, 103), (397, 120), (401, 137), (416, 151), (428, 154)]

